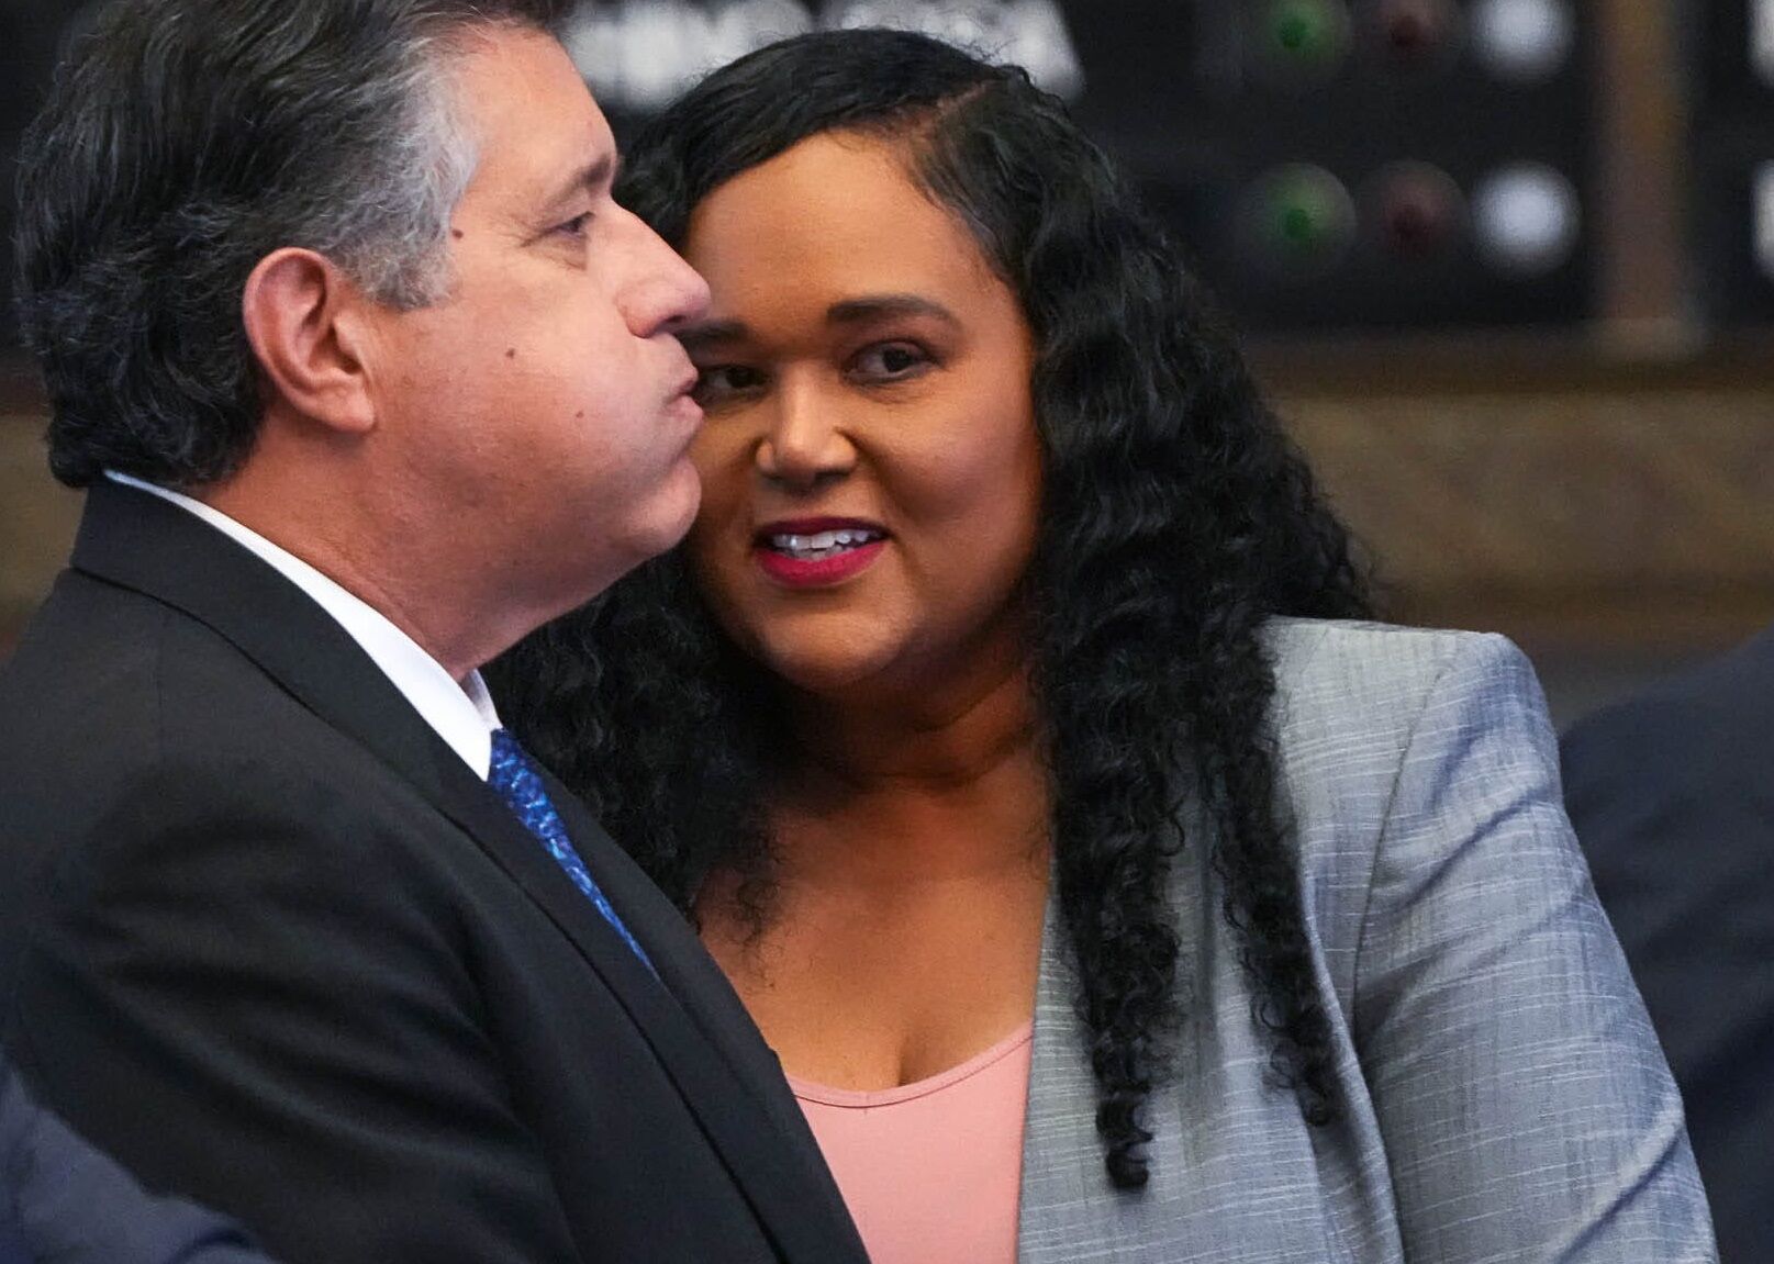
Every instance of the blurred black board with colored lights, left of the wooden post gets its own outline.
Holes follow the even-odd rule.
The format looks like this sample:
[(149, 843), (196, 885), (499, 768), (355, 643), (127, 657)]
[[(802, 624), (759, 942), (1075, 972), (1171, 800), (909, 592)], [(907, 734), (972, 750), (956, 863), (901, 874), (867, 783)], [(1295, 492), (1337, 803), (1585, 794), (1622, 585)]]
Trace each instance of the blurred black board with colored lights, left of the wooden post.
[[(59, 41), (99, 5), (0, 2), (11, 170)], [(623, 131), (782, 30), (921, 25), (1027, 60), (1068, 96), (1249, 330), (1570, 326), (1597, 316), (1607, 215), (1593, 197), (1600, 11), (1501, 9), (1522, 4), (1565, 32), (1535, 73), (1485, 35), (1499, 0), (587, 0), (569, 44)], [(1563, 216), (1540, 255), (1536, 213)]]

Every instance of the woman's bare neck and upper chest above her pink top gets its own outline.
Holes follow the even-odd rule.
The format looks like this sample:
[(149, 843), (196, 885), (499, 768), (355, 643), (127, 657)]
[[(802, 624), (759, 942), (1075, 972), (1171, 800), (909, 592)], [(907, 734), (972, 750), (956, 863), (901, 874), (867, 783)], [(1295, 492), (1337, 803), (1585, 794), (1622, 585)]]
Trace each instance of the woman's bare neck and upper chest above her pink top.
[[(852, 1088), (956, 1065), (1034, 1009), (1048, 791), (1020, 656), (850, 706), (797, 698), (766, 794), (770, 924), (738, 874), (703, 941), (784, 1065)], [(990, 667), (992, 670), (985, 670)]]

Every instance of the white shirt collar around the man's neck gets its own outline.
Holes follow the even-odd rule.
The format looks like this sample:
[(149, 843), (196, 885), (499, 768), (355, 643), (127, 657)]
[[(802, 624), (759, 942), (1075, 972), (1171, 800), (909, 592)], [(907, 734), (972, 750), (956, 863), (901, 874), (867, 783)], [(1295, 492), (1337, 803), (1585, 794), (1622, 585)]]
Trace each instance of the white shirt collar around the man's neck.
[(334, 622), (344, 628), (351, 640), (364, 647), (371, 661), (381, 668), (381, 674), (401, 691), (413, 711), (436, 730), (436, 736), (461, 755), (475, 776), (486, 780), (493, 762), (493, 730), (500, 725), (493, 698), (479, 672), (468, 672), (467, 679), (458, 684), (442, 663), (396, 628), (387, 615), (371, 608), (362, 597), (346, 592), (300, 557), (279, 548), (259, 532), (241, 527), (220, 509), (115, 470), (106, 470), (105, 475), (112, 482), (170, 500), (179, 509), (195, 514), (229, 539), (252, 550), (266, 566), (309, 594), (321, 610), (332, 615)]

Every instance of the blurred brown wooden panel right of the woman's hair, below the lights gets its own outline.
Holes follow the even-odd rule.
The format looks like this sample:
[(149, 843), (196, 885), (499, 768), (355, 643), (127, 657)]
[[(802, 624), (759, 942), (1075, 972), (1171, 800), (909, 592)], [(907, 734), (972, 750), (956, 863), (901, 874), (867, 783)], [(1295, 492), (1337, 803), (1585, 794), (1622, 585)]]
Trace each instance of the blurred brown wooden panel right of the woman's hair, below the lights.
[(1536, 649), (1728, 645), (1774, 620), (1774, 395), (1284, 401), (1396, 612)]

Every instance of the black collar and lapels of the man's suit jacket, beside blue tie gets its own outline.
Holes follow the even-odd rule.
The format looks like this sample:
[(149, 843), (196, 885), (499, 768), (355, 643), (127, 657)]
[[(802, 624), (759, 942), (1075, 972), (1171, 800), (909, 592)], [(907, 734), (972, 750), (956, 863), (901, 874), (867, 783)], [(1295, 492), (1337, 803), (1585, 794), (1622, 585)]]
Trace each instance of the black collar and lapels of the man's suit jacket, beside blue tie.
[[(568, 828), (587, 869), (648, 948), (660, 979), (357, 642), (248, 550), (177, 505), (96, 484), (87, 496), (73, 564), (209, 626), (307, 709), (419, 789), (523, 888), (635, 1019), (782, 1255), (825, 1264), (832, 1243), (848, 1239), (862, 1259), (830, 1175), (823, 1166), (814, 1174), (811, 1161), (791, 1166), (786, 1158), (797, 1142), (811, 1147), (811, 1140), (804, 1126), (795, 1136), (781, 1113), (766, 1106), (770, 1078), (759, 1083), (759, 1055), (743, 1048), (742, 1034), (756, 1039), (750, 1019), (736, 1000), (731, 1007), (720, 1003), (718, 989), (703, 977), (715, 968), (706, 959), (695, 961), (703, 956), (701, 947), (676, 909), (564, 789), (552, 785), (550, 792), (562, 805), (562, 815), (571, 814)], [(697, 1012), (695, 1018), (687, 1009), (710, 1005), (713, 1014)], [(726, 1058), (717, 1057), (717, 1042)], [(779, 1069), (773, 1078), (781, 1080)], [(820, 1209), (827, 1214), (807, 1205), (809, 1193), (820, 1195)]]

